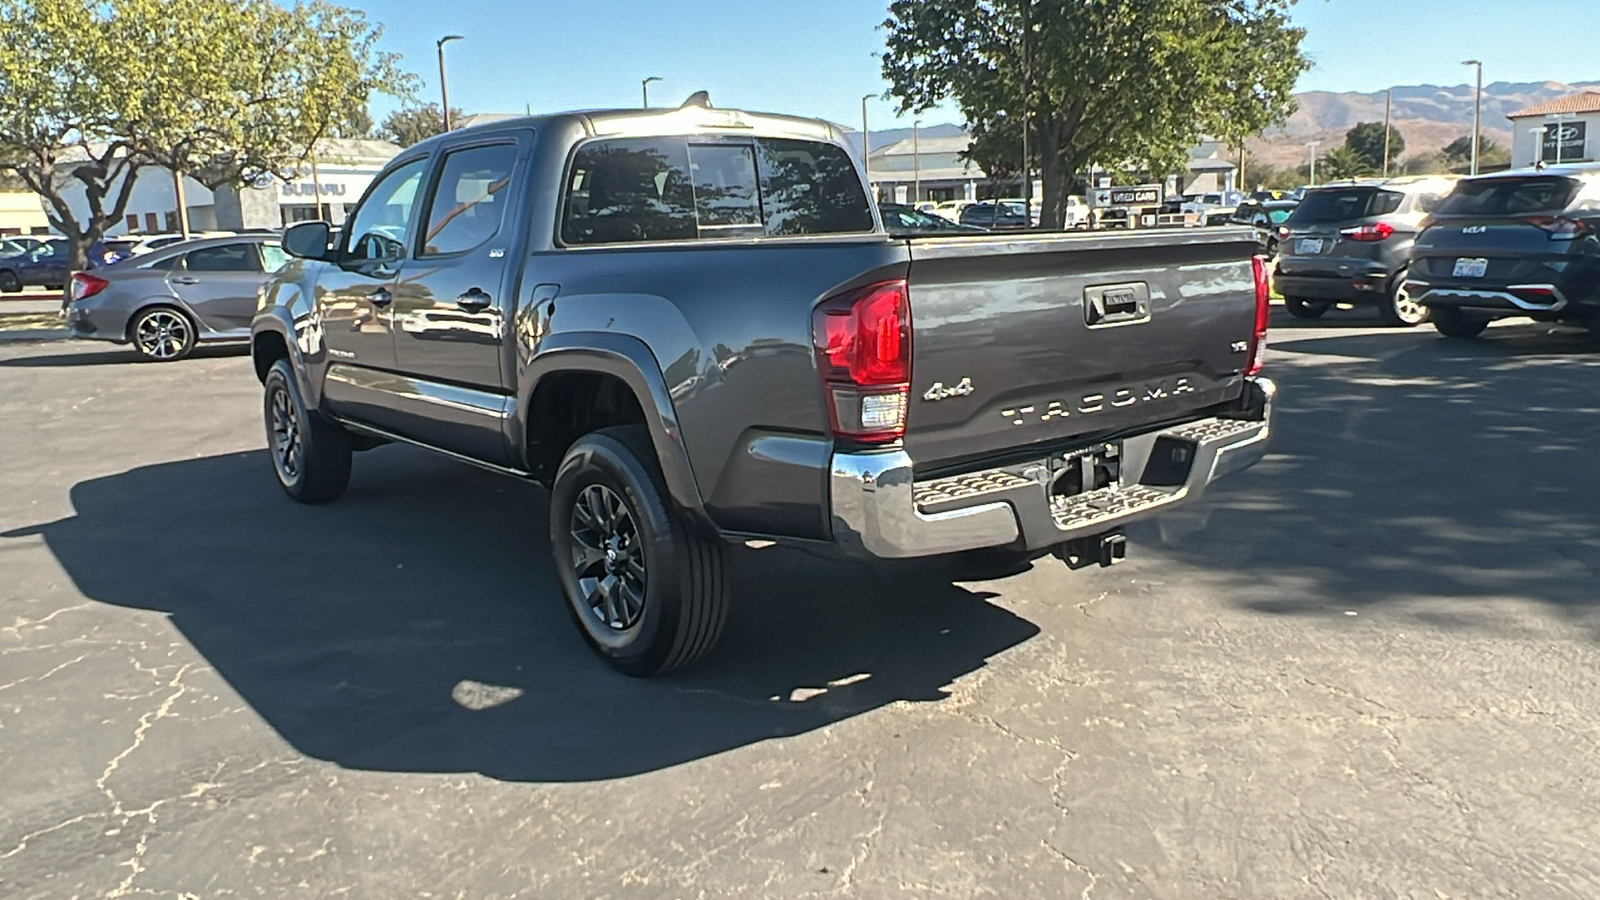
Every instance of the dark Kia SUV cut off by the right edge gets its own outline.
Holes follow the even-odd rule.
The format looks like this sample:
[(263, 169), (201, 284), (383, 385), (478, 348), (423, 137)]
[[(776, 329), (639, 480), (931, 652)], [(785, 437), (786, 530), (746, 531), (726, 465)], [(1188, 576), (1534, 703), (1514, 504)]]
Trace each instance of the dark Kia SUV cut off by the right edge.
[(1453, 338), (1509, 315), (1600, 336), (1600, 165), (1462, 181), (1416, 240), (1410, 291)]

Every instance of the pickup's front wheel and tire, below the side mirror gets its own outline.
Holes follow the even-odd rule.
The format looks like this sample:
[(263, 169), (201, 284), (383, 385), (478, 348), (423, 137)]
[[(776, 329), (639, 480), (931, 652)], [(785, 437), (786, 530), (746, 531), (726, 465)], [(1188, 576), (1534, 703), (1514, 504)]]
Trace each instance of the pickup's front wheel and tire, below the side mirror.
[(267, 453), (283, 492), (301, 503), (330, 503), (350, 485), (350, 432), (306, 408), (290, 360), (262, 383)]

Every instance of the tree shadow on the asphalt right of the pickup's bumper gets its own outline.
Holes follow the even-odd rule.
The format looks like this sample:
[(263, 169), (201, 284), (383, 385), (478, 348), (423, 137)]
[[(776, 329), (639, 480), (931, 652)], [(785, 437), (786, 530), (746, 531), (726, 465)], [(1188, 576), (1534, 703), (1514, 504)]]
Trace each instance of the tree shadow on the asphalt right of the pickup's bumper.
[(1528, 626), (1507, 604), (1533, 604), (1600, 639), (1600, 352), (1586, 335), (1270, 346), (1272, 453), (1166, 552), (1264, 613), (1384, 609), (1506, 633)]

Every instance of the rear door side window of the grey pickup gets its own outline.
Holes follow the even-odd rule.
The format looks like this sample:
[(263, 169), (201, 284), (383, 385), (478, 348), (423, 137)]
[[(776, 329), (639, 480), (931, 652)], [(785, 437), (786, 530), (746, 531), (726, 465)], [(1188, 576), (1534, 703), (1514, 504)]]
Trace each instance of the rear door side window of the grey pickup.
[(499, 232), (512, 192), (517, 144), (470, 147), (445, 155), (438, 186), (427, 200), (427, 231), (419, 256), (466, 253)]

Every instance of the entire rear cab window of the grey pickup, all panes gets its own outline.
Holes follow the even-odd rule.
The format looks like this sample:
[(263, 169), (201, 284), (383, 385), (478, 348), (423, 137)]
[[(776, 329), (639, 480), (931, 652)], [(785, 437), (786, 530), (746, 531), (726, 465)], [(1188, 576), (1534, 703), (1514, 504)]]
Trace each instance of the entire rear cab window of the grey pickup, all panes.
[(566, 245), (874, 231), (854, 163), (821, 141), (590, 141), (565, 187)]

